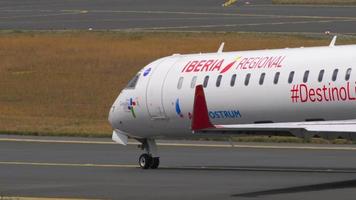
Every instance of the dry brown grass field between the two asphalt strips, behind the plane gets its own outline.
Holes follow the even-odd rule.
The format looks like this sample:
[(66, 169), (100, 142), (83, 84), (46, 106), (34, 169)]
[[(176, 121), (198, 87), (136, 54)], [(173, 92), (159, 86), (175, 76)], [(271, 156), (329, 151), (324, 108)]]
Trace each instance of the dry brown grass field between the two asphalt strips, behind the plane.
[[(0, 130), (110, 134), (107, 113), (145, 64), (177, 52), (326, 45), (298, 36), (0, 33)], [(351, 43), (351, 42), (350, 42)]]

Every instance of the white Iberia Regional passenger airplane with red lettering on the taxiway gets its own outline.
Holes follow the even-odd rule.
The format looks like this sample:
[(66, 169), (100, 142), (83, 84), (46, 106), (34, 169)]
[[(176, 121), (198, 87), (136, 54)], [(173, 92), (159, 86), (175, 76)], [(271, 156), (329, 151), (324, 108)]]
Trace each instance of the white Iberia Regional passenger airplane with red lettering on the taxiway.
[(109, 111), (112, 139), (134, 138), (143, 169), (157, 138), (242, 134), (356, 139), (356, 45), (199, 53), (141, 69)]

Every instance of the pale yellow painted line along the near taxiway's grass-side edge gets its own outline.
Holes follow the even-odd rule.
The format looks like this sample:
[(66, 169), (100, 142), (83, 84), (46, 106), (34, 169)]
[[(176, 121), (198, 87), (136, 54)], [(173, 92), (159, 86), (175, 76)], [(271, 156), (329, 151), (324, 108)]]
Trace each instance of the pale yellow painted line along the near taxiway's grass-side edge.
[[(37, 142), (37, 143), (64, 143), (64, 144), (116, 144), (111, 141), (87, 140), (54, 140), (54, 139), (26, 139), (26, 138), (0, 138), (0, 142)], [(139, 142), (129, 142), (128, 145), (139, 145)], [(251, 148), (251, 149), (300, 149), (300, 150), (344, 150), (356, 151), (356, 146), (317, 146), (317, 145), (275, 145), (275, 144), (209, 144), (209, 143), (177, 143), (158, 142), (158, 146), (168, 147), (210, 147), (210, 148)]]

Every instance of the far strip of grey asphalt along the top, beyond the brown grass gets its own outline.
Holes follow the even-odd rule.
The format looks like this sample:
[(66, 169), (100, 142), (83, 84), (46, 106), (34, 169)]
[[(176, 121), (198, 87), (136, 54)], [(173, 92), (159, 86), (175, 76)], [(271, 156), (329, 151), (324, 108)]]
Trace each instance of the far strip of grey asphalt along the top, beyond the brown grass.
[(356, 6), (272, 5), (270, 0), (2, 0), (2, 30), (356, 33)]

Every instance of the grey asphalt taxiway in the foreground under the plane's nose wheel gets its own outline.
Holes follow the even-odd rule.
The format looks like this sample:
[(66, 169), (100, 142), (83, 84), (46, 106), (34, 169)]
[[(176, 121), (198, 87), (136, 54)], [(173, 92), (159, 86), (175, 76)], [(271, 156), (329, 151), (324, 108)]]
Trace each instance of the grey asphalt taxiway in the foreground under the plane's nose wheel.
[(355, 146), (165, 141), (159, 146), (161, 168), (142, 170), (134, 144), (16, 138), (0, 137), (2, 197), (327, 200), (356, 195)]

